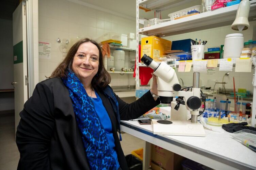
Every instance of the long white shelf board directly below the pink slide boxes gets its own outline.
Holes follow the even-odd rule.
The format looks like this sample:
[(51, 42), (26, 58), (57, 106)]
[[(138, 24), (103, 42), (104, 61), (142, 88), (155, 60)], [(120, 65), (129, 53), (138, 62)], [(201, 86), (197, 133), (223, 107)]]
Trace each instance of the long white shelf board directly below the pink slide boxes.
[[(249, 21), (256, 17), (256, 0), (252, 0)], [(205, 30), (231, 25), (236, 18), (238, 5), (227, 6), (177, 20), (163, 22), (154, 26), (139, 29), (140, 34), (159, 37)]]

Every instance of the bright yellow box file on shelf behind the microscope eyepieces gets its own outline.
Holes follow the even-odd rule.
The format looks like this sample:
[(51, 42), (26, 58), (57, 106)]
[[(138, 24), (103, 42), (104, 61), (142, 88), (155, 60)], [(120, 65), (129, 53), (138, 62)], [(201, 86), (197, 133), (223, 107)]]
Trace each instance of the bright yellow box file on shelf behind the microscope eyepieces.
[(165, 51), (171, 50), (172, 41), (149, 36), (141, 38), (141, 58), (144, 54), (150, 56), (155, 61), (160, 61), (159, 56), (165, 55)]

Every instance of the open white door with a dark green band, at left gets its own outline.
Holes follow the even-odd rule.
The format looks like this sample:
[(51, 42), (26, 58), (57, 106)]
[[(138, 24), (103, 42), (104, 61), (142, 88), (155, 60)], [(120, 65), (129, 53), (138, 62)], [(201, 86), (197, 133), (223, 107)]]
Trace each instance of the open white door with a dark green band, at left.
[(13, 12), (13, 68), (15, 133), (20, 121), (19, 113), (28, 100), (27, 22), (26, 2), (22, 1)]

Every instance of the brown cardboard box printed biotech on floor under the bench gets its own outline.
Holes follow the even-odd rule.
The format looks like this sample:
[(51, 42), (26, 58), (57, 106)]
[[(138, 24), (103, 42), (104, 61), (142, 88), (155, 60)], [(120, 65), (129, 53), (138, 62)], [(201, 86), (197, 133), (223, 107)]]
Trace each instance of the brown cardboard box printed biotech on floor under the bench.
[(185, 157), (180, 156), (176, 153), (173, 153), (156, 145), (151, 145), (151, 161), (165, 170), (182, 169), (181, 163), (184, 159)]

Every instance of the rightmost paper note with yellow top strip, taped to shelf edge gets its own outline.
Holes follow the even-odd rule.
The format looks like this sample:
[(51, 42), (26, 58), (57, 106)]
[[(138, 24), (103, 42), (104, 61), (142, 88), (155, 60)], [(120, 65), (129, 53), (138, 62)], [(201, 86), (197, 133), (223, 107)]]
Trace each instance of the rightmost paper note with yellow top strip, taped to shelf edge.
[(237, 58), (235, 72), (251, 72), (252, 60), (251, 58)]

